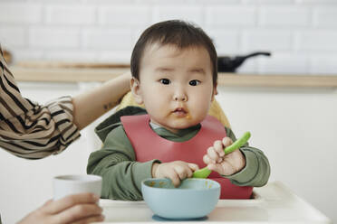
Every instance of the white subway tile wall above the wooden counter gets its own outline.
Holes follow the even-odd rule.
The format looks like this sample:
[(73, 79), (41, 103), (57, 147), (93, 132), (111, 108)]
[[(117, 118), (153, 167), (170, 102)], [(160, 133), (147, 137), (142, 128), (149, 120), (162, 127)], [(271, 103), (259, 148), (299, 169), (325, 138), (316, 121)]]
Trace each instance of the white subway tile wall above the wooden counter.
[(240, 72), (337, 74), (337, 0), (0, 0), (15, 61), (130, 62), (150, 24), (197, 23), (218, 55), (271, 51)]

